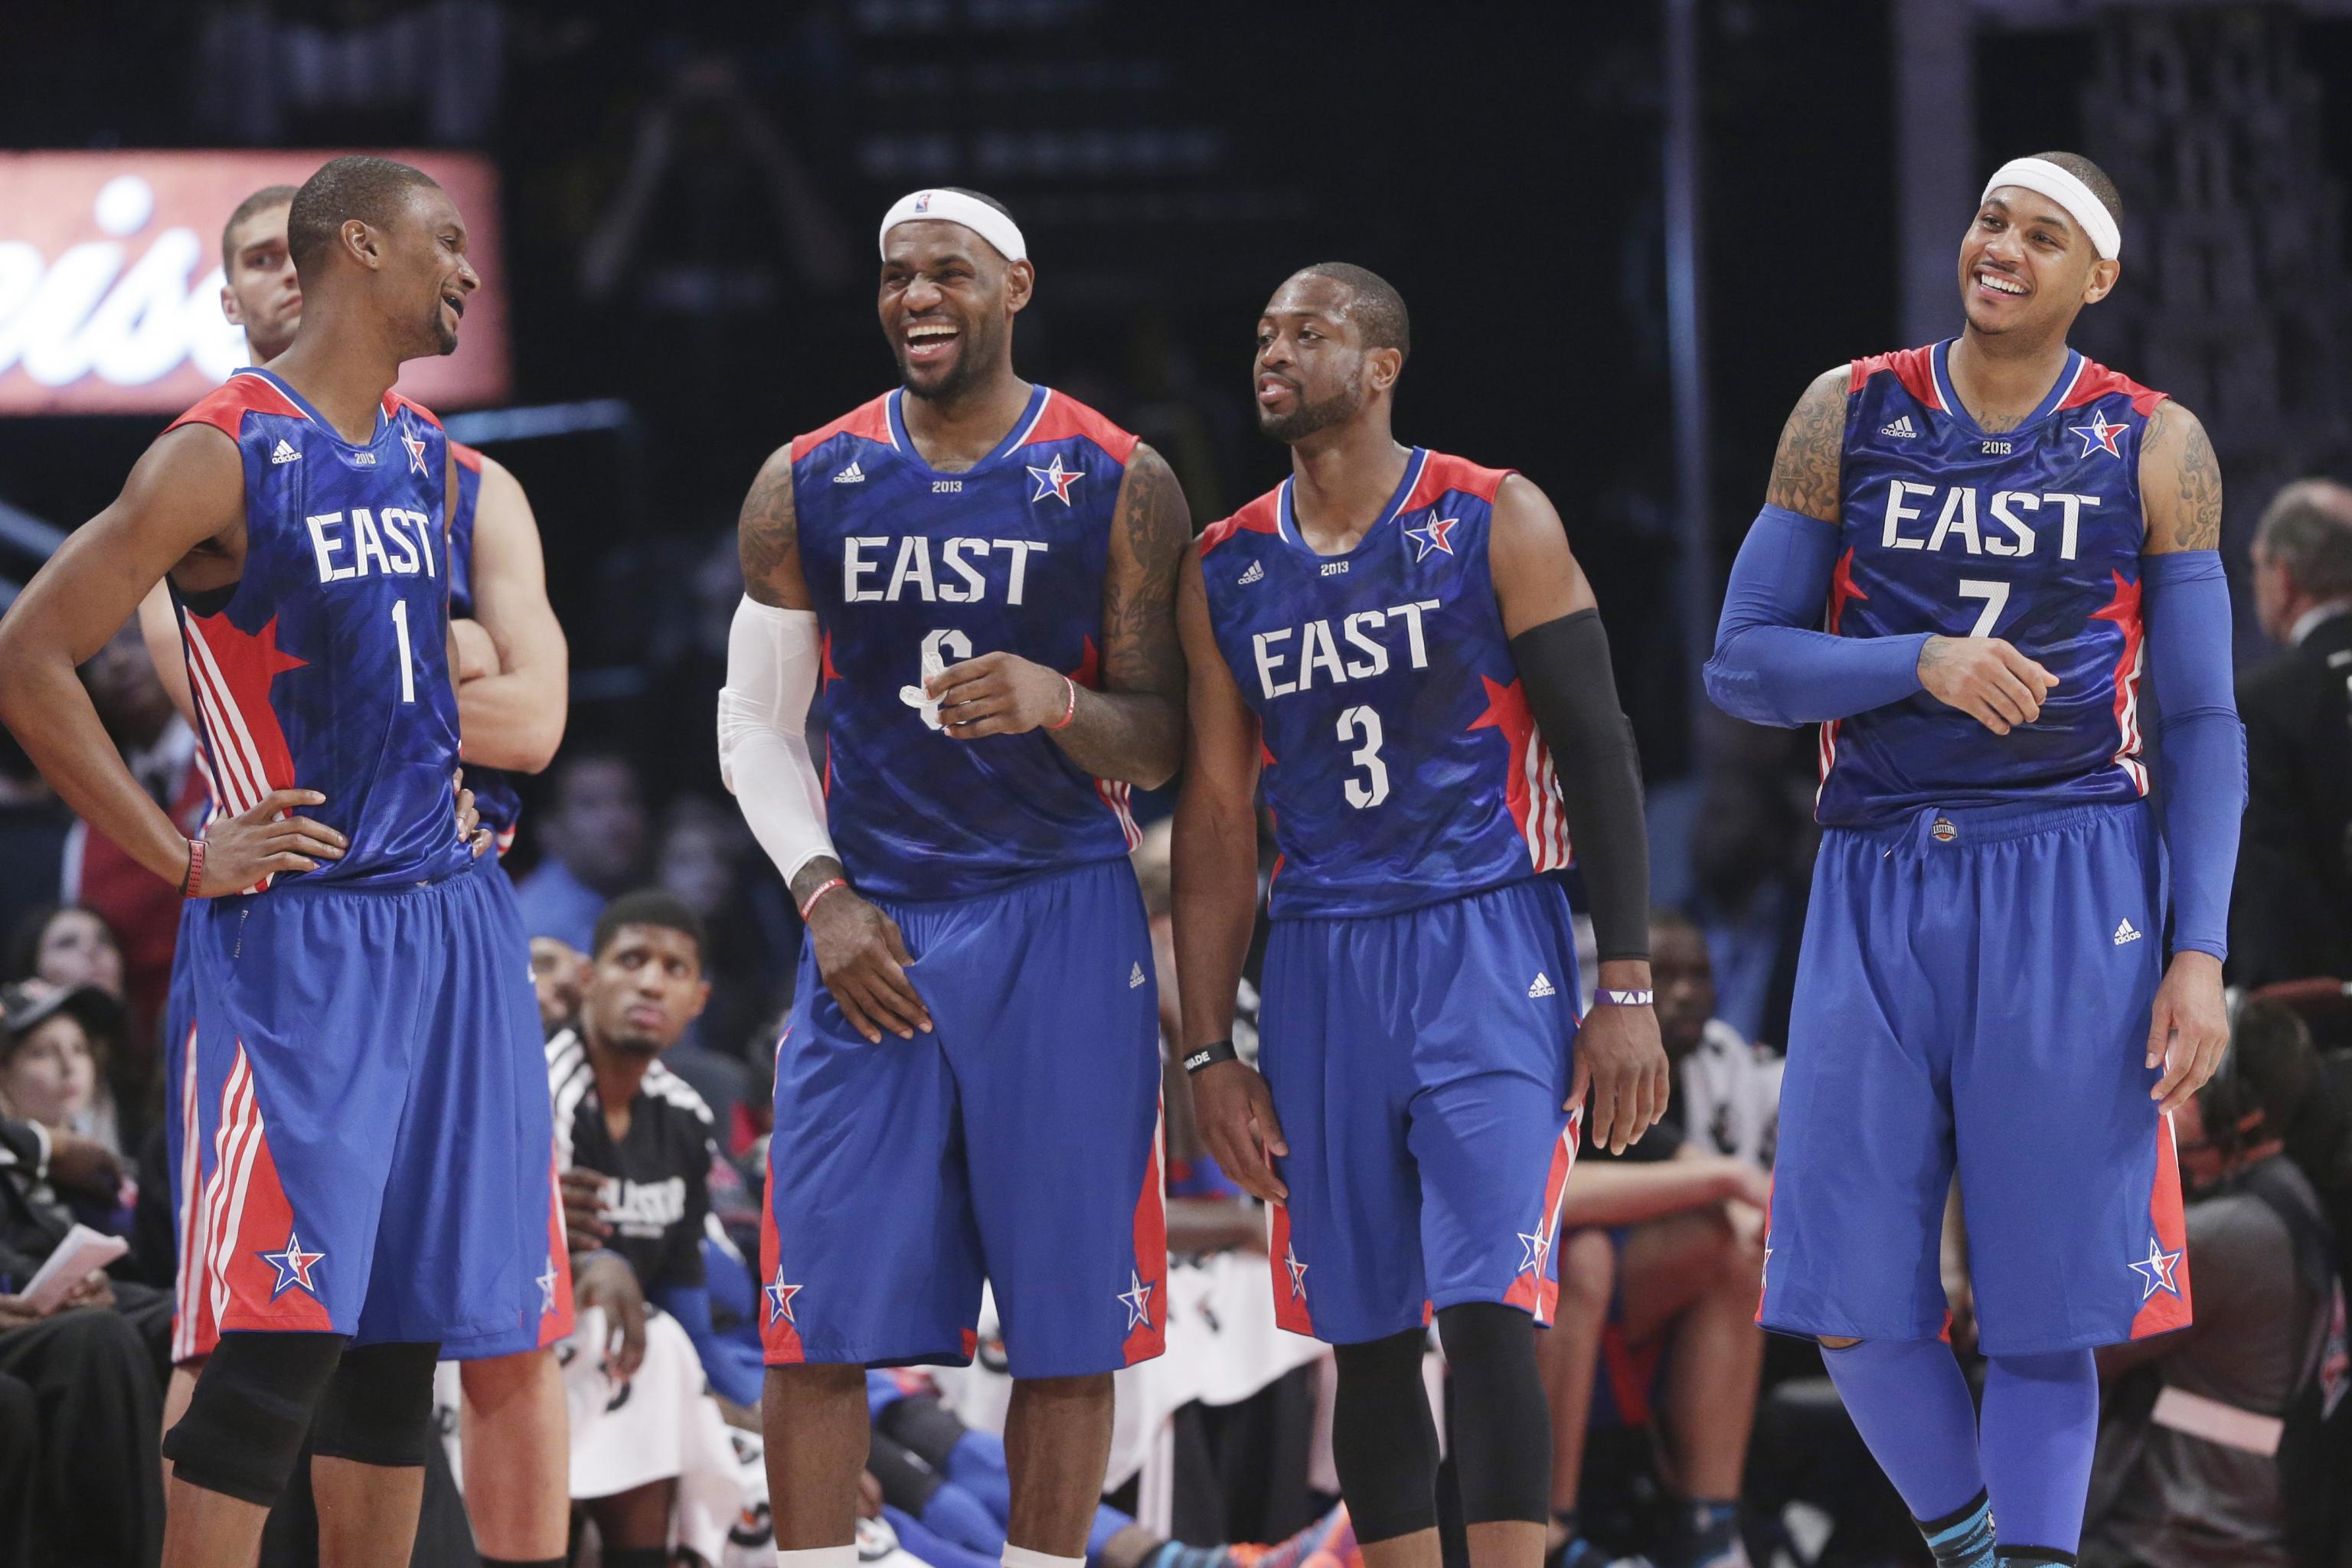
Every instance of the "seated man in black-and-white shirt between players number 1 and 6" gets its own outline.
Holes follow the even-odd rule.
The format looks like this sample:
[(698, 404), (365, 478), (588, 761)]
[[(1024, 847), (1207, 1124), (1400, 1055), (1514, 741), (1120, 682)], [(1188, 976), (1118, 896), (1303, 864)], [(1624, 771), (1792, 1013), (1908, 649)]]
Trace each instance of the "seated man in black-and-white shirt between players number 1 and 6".
[[(701, 919), (673, 893), (616, 898), (595, 926), (579, 1027), (548, 1041), (567, 1218), (574, 1246), (595, 1248), (576, 1269), (583, 1326), (564, 1373), (572, 1490), (597, 1523), (607, 1568), (670, 1561), (706, 1380), (757, 1425), (760, 1354), (722, 1342), (710, 1321), (710, 1107), (661, 1065), (710, 997), (703, 947)], [(644, 1314), (644, 1302), (661, 1312)], [(590, 1307), (602, 1314), (590, 1319)], [(614, 1354), (609, 1338), (588, 1338), (609, 1324), (637, 1345)], [(630, 1399), (609, 1399), (621, 1382)]]

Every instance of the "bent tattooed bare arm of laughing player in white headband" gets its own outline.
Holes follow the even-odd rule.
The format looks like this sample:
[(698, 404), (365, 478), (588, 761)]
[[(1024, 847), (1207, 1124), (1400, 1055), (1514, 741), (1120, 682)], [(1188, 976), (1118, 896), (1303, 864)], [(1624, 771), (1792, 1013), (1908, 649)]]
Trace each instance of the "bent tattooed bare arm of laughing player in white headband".
[(1176, 642), (1176, 576), (1192, 543), (1192, 512), (1176, 473), (1136, 447), (1110, 520), (1103, 576), (1103, 686), (1014, 654), (981, 654), (929, 679), (938, 717), (957, 741), (1044, 729), (1096, 778), (1157, 790), (1183, 759), (1185, 663)]

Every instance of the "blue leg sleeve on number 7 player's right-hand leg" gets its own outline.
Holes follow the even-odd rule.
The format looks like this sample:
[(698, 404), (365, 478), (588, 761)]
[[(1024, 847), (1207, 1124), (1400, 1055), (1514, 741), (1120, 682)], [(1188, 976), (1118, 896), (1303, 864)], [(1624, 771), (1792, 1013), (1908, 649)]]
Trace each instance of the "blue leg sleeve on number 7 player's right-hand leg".
[(1985, 1368), (1985, 1486), (2002, 1554), (2074, 1561), (2098, 1446), (2098, 1359), (2089, 1349), (1992, 1356)]

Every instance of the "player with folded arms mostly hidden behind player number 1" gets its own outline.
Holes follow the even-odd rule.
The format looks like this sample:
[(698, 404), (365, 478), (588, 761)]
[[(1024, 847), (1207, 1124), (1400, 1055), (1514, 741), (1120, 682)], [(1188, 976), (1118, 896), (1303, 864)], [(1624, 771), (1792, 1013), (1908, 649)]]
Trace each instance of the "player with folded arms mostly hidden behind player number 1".
[[(238, 202), (221, 228), (221, 315), (245, 327), (254, 364), (282, 355), (301, 331), (301, 280), (287, 254), (292, 202), (294, 186), (263, 186)], [(447, 555), (449, 614), (459, 646), (459, 729), (466, 736), (461, 750), (480, 820), (492, 830), (499, 853), (506, 853), (520, 816), (520, 797), (506, 769), (536, 773), (562, 743), (564, 632), (548, 607), (539, 524), (522, 484), (506, 465), (463, 442), (449, 442), (449, 451), (459, 461)], [(202, 726), (188, 689), (179, 616), (165, 583), (139, 602), (139, 628), (155, 672), (181, 715), (191, 726)], [(183, 936), (198, 910), (195, 903), (186, 907)], [(165, 1121), (172, 1145), (172, 1213), (183, 1239), (191, 1237), (193, 1222), (186, 1124), (193, 1121), (195, 1105), (183, 1093), (186, 1032), (195, 1006), (191, 961), (193, 943), (181, 940), (172, 954), (172, 1011), (165, 1027), (165, 1081), (183, 1100), (179, 1107), (183, 1114)], [(195, 1286), (193, 1258), (186, 1253), (183, 1246), (174, 1312), (176, 1363), (165, 1392), (167, 1432), (188, 1408), (195, 1371), (219, 1338), (205, 1309), (205, 1293)], [(501, 1328), (482, 1342), (442, 1345), (442, 1356), (463, 1368), (461, 1425), (475, 1460), (466, 1467), (466, 1512), (489, 1568), (543, 1566), (562, 1556), (569, 1530), (562, 1373), (546, 1349), (572, 1331), (572, 1260), (560, 1234), (550, 1246), (550, 1260), (557, 1291), (541, 1324)]]

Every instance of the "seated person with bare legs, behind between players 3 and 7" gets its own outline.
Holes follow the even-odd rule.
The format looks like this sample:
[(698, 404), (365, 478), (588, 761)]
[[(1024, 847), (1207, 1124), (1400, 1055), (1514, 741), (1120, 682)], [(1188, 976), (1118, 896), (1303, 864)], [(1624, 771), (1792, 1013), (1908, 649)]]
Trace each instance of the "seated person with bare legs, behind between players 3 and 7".
[(1606, 1561), (1578, 1521), (1588, 1427), (1646, 1427), (1653, 1408), (1675, 1500), (1661, 1568), (1748, 1561), (1738, 1493), (1764, 1363), (1755, 1305), (1780, 1063), (1712, 1018), (1708, 945), (1689, 917), (1656, 912), (1649, 950), (1672, 1098), (1623, 1157), (1581, 1152), (1559, 1211), (1559, 1309), (1538, 1345), (1562, 1568)]

